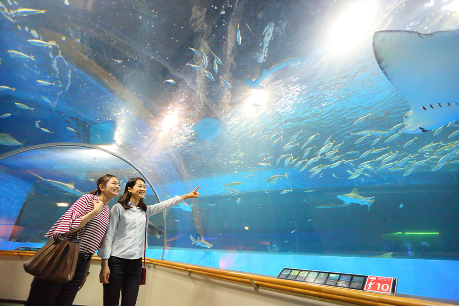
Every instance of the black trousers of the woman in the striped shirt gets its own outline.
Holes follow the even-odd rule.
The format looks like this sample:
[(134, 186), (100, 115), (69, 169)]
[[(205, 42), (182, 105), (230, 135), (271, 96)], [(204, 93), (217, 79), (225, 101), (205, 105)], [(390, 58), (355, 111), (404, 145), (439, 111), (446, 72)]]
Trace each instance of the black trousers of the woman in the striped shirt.
[(61, 284), (34, 277), (25, 306), (71, 306), (91, 261), (91, 256), (87, 257), (85, 259), (85, 254), (79, 253), (77, 269), (69, 283)]

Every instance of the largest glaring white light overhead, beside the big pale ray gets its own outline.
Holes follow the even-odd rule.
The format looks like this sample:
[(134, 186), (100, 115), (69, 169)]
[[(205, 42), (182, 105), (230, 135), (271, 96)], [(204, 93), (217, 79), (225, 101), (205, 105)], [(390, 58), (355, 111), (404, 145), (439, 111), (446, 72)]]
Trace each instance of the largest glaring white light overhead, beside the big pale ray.
[(355, 47), (373, 21), (376, 5), (372, 2), (354, 4), (335, 22), (330, 37), (331, 47), (336, 53), (344, 53)]

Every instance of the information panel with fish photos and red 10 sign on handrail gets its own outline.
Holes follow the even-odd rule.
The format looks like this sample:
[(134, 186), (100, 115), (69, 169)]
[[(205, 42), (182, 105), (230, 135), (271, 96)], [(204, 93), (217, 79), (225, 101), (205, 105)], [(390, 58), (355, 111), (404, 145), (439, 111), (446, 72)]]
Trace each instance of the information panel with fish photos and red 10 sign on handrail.
[(395, 295), (397, 278), (284, 268), (276, 278)]

